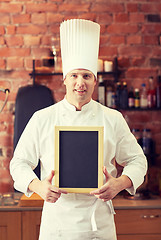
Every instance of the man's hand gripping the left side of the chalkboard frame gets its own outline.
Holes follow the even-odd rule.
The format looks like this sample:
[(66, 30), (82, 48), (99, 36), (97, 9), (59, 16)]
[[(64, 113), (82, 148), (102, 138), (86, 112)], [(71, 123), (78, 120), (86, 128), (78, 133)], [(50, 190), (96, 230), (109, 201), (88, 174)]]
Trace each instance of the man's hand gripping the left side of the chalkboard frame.
[(50, 175), (42, 181), (34, 179), (29, 185), (29, 190), (36, 192), (45, 201), (55, 203), (61, 194), (67, 194), (67, 191), (52, 185), (53, 177), (54, 171), (51, 171)]

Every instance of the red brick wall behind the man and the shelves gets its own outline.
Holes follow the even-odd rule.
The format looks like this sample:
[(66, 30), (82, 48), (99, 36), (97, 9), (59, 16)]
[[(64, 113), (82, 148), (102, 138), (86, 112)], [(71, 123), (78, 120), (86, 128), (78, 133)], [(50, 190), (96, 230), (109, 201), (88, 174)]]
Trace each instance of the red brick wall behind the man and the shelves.
[[(1, 0), (0, 87), (9, 88), (9, 101), (0, 113), (0, 161), (8, 167), (13, 149), (14, 104), (18, 88), (32, 84), (32, 60), (49, 56), (51, 37), (64, 19), (85, 18), (101, 25), (100, 58), (118, 58), (120, 80), (140, 87), (161, 74), (161, 2), (158, 0)], [(62, 77), (40, 77), (64, 96)], [(0, 93), (0, 104), (4, 96)], [(95, 97), (97, 92), (95, 92)], [(161, 112), (127, 112), (129, 124), (152, 129), (161, 162)], [(136, 122), (135, 122), (136, 121)]]

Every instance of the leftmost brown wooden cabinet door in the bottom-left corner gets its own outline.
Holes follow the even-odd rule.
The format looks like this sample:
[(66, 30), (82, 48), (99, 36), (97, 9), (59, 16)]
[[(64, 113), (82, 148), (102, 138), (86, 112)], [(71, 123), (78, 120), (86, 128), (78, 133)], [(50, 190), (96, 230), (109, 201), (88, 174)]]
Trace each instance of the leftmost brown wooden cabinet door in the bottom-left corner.
[(22, 240), (21, 212), (0, 212), (0, 240)]

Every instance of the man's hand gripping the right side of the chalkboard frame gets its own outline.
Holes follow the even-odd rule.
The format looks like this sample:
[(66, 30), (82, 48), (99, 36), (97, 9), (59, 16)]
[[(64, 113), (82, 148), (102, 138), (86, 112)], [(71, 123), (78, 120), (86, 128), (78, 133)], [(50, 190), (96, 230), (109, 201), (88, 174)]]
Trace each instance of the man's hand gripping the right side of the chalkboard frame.
[(125, 175), (118, 178), (112, 177), (107, 172), (106, 167), (103, 168), (103, 173), (106, 177), (106, 183), (101, 188), (90, 192), (90, 194), (95, 195), (104, 202), (113, 199), (120, 191), (132, 186), (131, 180)]

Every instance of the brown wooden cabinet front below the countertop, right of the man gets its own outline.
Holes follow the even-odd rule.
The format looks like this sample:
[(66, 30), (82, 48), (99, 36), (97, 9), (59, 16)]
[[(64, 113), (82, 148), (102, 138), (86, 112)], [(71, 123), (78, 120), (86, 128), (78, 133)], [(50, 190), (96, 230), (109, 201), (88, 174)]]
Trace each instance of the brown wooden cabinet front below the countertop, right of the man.
[(161, 239), (161, 209), (135, 208), (115, 211), (118, 240)]

